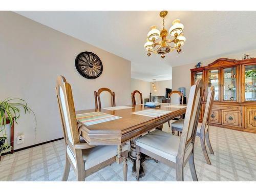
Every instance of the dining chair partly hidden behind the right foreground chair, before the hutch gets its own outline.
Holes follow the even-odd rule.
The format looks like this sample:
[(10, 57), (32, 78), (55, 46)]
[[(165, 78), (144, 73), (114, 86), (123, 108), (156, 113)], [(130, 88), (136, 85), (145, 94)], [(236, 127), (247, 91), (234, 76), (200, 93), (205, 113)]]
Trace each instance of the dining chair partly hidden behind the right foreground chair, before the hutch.
[[(210, 118), (210, 111), (212, 109), (212, 104), (214, 103), (214, 95), (215, 95), (215, 88), (214, 86), (211, 86), (207, 96), (202, 124), (201, 126), (197, 127), (197, 133), (196, 133), (196, 135), (200, 137), (200, 143), (201, 143), (202, 151), (204, 154), (204, 158), (207, 164), (209, 165), (211, 165), (211, 162), (206, 150), (205, 141), (207, 143), (210, 153), (214, 154), (214, 150), (212, 150), (212, 146), (210, 144), (210, 138), (209, 138), (209, 118)], [(183, 119), (175, 121), (174, 123), (172, 123), (172, 130), (182, 133), (183, 124), (184, 124)]]

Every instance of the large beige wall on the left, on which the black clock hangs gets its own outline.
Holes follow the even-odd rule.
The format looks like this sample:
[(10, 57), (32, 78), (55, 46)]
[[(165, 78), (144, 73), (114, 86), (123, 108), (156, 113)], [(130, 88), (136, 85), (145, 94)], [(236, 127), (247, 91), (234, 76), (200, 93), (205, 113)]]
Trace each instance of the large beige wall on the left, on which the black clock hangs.
[[(0, 100), (23, 98), (36, 114), (35, 139), (32, 115), (15, 124), (14, 149), (63, 137), (55, 94), (57, 75), (71, 83), (76, 110), (94, 108), (94, 91), (108, 87), (115, 91), (116, 104), (131, 103), (131, 62), (13, 12), (0, 11)], [(75, 57), (91, 51), (103, 63), (97, 79), (82, 77)], [(17, 132), (25, 143), (17, 145)]]

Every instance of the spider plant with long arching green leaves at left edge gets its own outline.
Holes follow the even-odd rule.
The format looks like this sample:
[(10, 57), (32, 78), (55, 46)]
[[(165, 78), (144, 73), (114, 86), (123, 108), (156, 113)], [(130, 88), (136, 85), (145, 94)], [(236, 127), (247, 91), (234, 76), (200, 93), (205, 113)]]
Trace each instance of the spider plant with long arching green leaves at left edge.
[[(34, 112), (28, 107), (27, 102), (23, 99), (12, 98), (0, 100), (0, 157), (2, 154), (10, 152), (12, 150), (12, 146), (6, 142), (7, 134), (6, 134), (6, 123), (7, 119), (10, 120), (10, 124), (12, 126), (13, 122), (17, 123), (17, 120), (20, 116), (20, 110), (24, 110), (25, 114), (27, 112)], [(35, 114), (34, 114), (35, 117)], [(12, 121), (13, 119), (13, 121)], [(35, 118), (35, 129), (36, 129), (36, 118)]]

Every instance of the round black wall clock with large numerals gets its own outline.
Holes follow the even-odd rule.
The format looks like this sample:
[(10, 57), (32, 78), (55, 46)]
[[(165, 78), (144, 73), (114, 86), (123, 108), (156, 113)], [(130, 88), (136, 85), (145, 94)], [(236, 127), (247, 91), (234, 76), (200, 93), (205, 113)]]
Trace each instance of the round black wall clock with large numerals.
[(103, 66), (100, 58), (92, 52), (82, 52), (76, 56), (77, 71), (85, 78), (95, 79), (100, 76)]

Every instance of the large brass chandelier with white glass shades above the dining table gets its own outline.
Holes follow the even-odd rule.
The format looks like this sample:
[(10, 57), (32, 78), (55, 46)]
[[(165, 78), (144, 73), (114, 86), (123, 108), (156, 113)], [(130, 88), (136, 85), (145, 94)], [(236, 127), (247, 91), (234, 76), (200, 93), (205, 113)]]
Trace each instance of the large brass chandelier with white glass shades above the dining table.
[[(147, 52), (147, 56), (150, 57), (151, 53), (158, 53), (164, 58), (166, 53), (176, 50), (178, 53), (181, 52), (181, 46), (184, 45), (186, 38), (183, 36), (184, 26), (180, 23), (179, 19), (173, 21), (173, 26), (170, 27), (169, 33), (164, 28), (164, 17), (167, 15), (167, 11), (161, 11), (160, 17), (163, 18), (163, 29), (161, 32), (152, 26), (150, 32), (147, 34), (147, 42), (144, 48)], [(170, 35), (172, 39), (167, 39), (167, 35)], [(161, 40), (158, 40), (161, 37)]]

